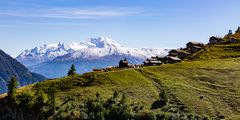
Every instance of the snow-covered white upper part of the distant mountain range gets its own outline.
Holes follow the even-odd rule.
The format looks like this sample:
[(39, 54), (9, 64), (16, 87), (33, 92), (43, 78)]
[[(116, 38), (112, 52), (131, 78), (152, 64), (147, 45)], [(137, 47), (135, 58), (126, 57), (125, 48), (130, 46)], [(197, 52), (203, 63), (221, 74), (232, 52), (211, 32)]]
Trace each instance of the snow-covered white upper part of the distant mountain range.
[(69, 44), (44, 44), (28, 49), (17, 56), (17, 60), (26, 66), (37, 65), (48, 61), (94, 60), (106, 56), (131, 56), (141, 60), (151, 56), (164, 56), (165, 49), (131, 49), (125, 48), (108, 37), (88, 38), (83, 42)]

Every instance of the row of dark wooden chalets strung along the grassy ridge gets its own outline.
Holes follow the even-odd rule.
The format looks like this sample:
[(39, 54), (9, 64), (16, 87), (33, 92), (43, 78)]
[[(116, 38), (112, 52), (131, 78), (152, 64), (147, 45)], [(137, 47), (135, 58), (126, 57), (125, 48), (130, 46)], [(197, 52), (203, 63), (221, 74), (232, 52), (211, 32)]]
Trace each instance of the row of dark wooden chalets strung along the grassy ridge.
[[(238, 28), (238, 31), (236, 31), (236, 32), (240, 33), (240, 27)], [(240, 39), (236, 39), (236, 38), (232, 37), (231, 35), (226, 36), (224, 38), (212, 36), (209, 39), (209, 45), (211, 45), (211, 44), (230, 44), (230, 43), (240, 43)], [(181, 62), (183, 59), (187, 58), (188, 56), (190, 56), (202, 49), (204, 49), (203, 43), (188, 42), (186, 44), (186, 48), (173, 49), (173, 50), (169, 51), (169, 54), (165, 57), (155, 56), (155, 57), (148, 58), (141, 65), (131, 65), (131, 64), (129, 64), (128, 60), (125, 58), (125, 59), (119, 61), (119, 66), (117, 66), (117, 67), (109, 66), (104, 69), (93, 69), (93, 71), (94, 72), (110, 71), (111, 69), (114, 69), (114, 68), (138, 68), (138, 67), (142, 67), (142, 66), (159, 66), (159, 65), (168, 64), (168, 63), (173, 64), (173, 63)]]

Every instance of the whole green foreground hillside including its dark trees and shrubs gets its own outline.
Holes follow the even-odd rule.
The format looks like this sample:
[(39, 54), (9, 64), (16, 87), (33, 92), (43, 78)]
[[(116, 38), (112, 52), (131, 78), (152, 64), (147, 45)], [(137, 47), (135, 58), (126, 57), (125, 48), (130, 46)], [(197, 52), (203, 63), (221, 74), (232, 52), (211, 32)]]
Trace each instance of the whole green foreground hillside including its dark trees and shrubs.
[(84, 74), (73, 64), (65, 77), (22, 88), (12, 78), (1, 96), (1, 118), (240, 119), (240, 39), (228, 42), (239, 34), (203, 45), (176, 63)]

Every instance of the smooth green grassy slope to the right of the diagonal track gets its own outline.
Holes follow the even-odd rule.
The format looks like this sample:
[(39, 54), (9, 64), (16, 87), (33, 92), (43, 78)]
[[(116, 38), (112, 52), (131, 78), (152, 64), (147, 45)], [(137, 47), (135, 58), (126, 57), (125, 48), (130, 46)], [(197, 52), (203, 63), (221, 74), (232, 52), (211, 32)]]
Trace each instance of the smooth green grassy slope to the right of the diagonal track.
[(240, 59), (219, 59), (145, 70), (191, 110), (211, 117), (239, 119), (239, 63)]

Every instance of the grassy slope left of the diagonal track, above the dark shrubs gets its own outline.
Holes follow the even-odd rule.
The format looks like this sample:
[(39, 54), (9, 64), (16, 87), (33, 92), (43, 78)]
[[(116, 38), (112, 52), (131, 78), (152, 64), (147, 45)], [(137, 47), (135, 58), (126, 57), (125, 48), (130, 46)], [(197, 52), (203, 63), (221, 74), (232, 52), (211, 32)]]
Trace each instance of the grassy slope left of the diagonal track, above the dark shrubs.
[[(99, 92), (103, 98), (112, 96), (114, 91), (126, 93), (134, 101), (140, 99), (143, 104), (150, 108), (151, 104), (158, 98), (158, 89), (139, 70), (121, 70), (107, 73), (87, 73), (71, 77), (41, 82), (41, 88), (47, 90), (53, 84), (57, 89), (57, 96), (63, 102), (70, 96), (78, 96), (79, 100), (95, 97)], [(34, 86), (20, 89), (20, 92), (28, 91), (33, 94)], [(29, 91), (30, 90), (30, 91)]]

